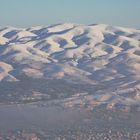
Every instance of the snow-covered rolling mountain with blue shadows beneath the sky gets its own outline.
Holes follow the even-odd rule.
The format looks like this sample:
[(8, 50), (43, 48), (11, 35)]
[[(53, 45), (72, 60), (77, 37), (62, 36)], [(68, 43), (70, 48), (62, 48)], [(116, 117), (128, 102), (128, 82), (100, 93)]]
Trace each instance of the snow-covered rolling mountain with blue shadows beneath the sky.
[(101, 101), (140, 104), (140, 30), (72, 23), (0, 28), (0, 81), (21, 76), (103, 87)]

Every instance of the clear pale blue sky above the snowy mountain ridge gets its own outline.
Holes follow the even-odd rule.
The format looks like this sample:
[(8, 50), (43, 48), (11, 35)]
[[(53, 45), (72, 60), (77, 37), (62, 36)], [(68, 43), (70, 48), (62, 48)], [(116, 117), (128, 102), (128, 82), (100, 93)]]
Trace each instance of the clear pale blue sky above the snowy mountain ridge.
[(62, 22), (140, 28), (140, 0), (0, 0), (0, 25)]

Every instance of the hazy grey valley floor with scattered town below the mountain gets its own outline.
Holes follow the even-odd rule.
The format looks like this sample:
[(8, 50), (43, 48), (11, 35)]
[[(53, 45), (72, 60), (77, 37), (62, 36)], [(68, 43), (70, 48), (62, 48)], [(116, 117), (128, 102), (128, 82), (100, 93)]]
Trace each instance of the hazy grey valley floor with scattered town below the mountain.
[(140, 139), (140, 112), (44, 104), (1, 105), (0, 140)]

